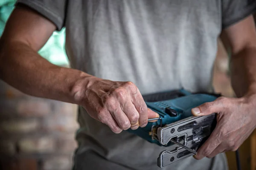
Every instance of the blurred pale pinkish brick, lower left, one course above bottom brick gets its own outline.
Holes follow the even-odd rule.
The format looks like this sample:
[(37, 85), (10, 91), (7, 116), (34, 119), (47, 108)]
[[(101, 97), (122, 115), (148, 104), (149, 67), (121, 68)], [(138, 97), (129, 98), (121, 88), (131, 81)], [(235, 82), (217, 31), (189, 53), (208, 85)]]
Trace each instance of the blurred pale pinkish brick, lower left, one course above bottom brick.
[(21, 153), (54, 153), (55, 139), (53, 137), (24, 138), (18, 142)]

